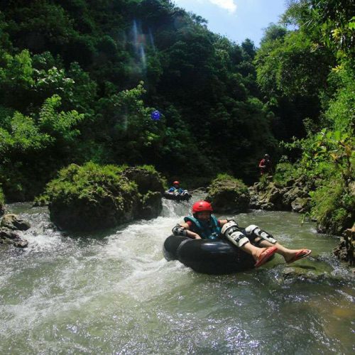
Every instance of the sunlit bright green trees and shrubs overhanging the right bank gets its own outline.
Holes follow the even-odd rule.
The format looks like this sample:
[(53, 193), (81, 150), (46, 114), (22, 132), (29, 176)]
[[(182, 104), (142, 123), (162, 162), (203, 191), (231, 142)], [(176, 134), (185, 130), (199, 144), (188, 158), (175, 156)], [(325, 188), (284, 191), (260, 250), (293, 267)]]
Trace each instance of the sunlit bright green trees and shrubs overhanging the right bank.
[[(292, 124), (282, 138), (296, 162), (279, 163), (274, 181), (286, 185), (302, 177), (313, 185), (310, 215), (321, 231), (333, 234), (355, 219), (353, 15), (351, 3), (292, 1), (283, 21), (299, 29), (271, 26), (256, 55), (261, 89), (280, 119), (288, 115)], [(291, 116), (285, 110), (290, 102), (296, 109)], [(301, 123), (303, 138), (295, 131)]]

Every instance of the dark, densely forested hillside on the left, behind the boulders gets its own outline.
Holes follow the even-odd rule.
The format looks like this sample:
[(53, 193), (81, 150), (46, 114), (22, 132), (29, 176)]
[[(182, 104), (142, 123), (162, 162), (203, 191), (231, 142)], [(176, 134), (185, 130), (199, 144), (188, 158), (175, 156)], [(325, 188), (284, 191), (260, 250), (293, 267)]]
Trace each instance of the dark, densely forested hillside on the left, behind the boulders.
[(255, 54), (170, 0), (2, 2), (6, 199), (33, 199), (60, 168), (87, 161), (255, 179), (258, 157), (277, 148)]

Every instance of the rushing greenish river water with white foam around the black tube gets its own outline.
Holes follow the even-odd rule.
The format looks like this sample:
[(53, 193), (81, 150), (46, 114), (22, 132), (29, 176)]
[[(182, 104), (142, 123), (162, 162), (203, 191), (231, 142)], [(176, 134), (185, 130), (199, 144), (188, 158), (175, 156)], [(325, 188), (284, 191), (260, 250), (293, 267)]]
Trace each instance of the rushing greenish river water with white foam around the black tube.
[[(238, 214), (281, 244), (312, 249), (285, 277), (281, 256), (257, 270), (203, 275), (165, 261), (163, 242), (192, 202), (104, 235), (67, 235), (44, 207), (13, 204), (27, 249), (0, 248), (0, 354), (354, 354), (354, 278), (338, 239), (290, 212)], [(229, 216), (232, 217), (232, 216)]]

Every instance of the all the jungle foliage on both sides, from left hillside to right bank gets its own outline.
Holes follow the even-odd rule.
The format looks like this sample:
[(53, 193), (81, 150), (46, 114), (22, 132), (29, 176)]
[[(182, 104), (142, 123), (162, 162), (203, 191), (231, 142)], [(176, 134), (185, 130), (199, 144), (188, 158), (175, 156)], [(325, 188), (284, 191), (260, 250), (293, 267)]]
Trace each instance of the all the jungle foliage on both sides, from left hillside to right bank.
[(1, 1), (6, 200), (31, 200), (89, 161), (151, 164), (192, 185), (218, 173), (251, 183), (267, 152), (288, 155), (279, 181), (317, 182), (313, 217), (328, 230), (350, 224), (354, 13), (353, 1), (288, 1), (256, 48), (170, 0)]

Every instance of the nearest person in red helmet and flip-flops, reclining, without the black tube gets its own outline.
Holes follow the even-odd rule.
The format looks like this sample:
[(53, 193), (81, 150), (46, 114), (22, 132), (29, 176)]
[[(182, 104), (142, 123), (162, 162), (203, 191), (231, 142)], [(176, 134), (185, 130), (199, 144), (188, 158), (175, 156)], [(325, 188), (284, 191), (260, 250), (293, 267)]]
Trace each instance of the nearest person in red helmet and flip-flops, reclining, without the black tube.
[(192, 239), (219, 239), (226, 237), (232, 244), (251, 254), (256, 268), (266, 263), (274, 253), (293, 263), (309, 256), (309, 249), (288, 249), (276, 241), (271, 234), (251, 224), (242, 229), (232, 219), (217, 219), (212, 214), (212, 205), (207, 201), (197, 201), (192, 205), (192, 216), (184, 218), (184, 223), (173, 228), (173, 234), (189, 236)]

